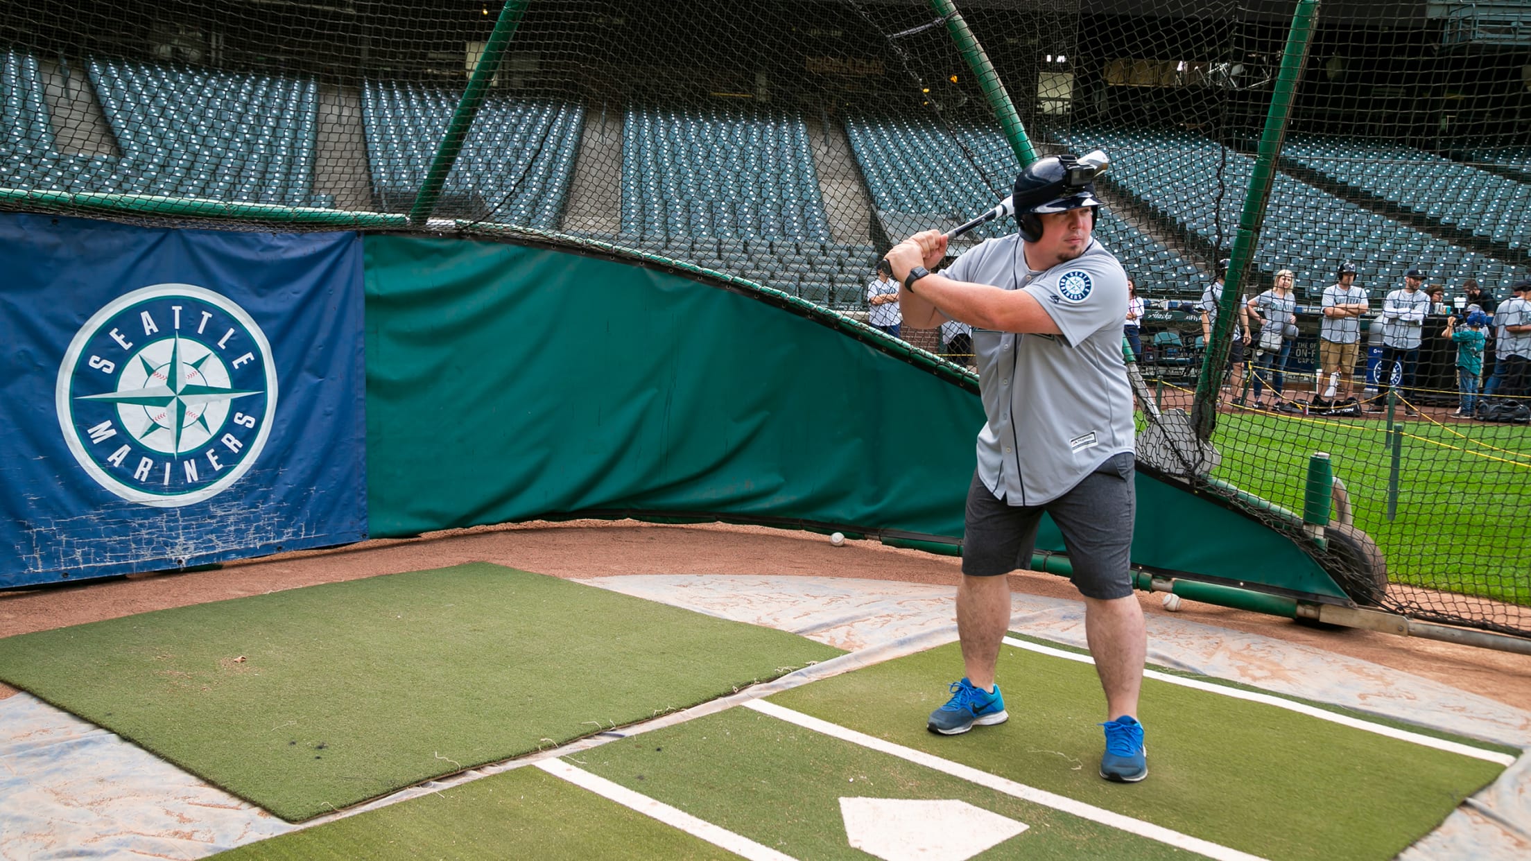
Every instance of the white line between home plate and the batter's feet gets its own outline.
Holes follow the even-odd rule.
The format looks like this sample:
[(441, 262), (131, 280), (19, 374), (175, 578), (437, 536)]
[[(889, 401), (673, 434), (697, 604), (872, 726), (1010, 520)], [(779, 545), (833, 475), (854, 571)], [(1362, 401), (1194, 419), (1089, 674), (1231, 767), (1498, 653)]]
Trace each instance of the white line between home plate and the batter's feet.
[(1096, 807), (1095, 804), (1085, 804), (1084, 801), (1075, 801), (1073, 798), (1069, 798), (1066, 795), (1047, 792), (1046, 789), (1026, 786), (1024, 783), (1017, 783), (1014, 780), (998, 777), (986, 771), (978, 771), (972, 766), (965, 766), (961, 763), (943, 760), (934, 754), (926, 754), (925, 751), (916, 751), (914, 748), (905, 748), (903, 745), (885, 742), (882, 738), (867, 735), (865, 732), (847, 729), (837, 723), (819, 720), (818, 717), (811, 717), (799, 711), (793, 711), (790, 708), (782, 708), (776, 703), (770, 703), (766, 700), (750, 700), (744, 703), (744, 708), (755, 709), (761, 714), (767, 714), (779, 720), (785, 720), (787, 723), (802, 726), (804, 729), (821, 732), (831, 738), (839, 738), (842, 742), (860, 745), (862, 748), (899, 757), (900, 760), (906, 760), (914, 764), (939, 771), (942, 774), (949, 774), (952, 777), (966, 780), (968, 783), (975, 783), (986, 789), (994, 789), (995, 792), (1003, 792), (1006, 795), (1020, 798), (1023, 801), (1030, 801), (1033, 804), (1041, 804), (1044, 807), (1063, 810), (1064, 814), (1079, 817), (1081, 820), (1089, 820), (1092, 823), (1110, 826), (1113, 829), (1124, 830), (1127, 833), (1133, 833), (1142, 838), (1174, 846), (1176, 849), (1185, 849), (1188, 852), (1196, 852), (1197, 855), (1205, 855), (1208, 858), (1216, 858), (1219, 861), (1260, 861), (1258, 855), (1249, 855), (1248, 852), (1229, 849), (1226, 846), (1220, 846), (1213, 841), (1202, 840), (1199, 836), (1191, 836), (1187, 833), (1180, 833), (1177, 830), (1167, 829), (1164, 826), (1156, 826), (1153, 823), (1145, 823), (1142, 820), (1124, 817), (1121, 814), (1107, 810), (1104, 807)]

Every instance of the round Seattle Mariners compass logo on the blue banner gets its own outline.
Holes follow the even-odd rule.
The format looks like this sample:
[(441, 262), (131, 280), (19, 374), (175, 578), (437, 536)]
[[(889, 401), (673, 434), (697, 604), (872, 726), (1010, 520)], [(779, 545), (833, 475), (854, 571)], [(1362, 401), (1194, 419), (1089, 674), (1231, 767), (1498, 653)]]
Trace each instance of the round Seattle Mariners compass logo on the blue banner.
[(69, 450), (101, 487), (144, 506), (188, 506), (256, 463), (277, 406), (276, 362), (239, 305), (156, 283), (81, 326), (55, 404)]

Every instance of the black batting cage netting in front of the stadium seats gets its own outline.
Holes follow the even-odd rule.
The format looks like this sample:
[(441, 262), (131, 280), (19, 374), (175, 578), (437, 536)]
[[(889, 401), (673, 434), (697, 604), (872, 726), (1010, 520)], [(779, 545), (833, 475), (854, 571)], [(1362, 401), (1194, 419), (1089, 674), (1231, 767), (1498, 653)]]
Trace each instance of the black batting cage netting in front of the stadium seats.
[(0, 208), (536, 237), (890, 332), (891, 244), (1101, 149), (1144, 467), (1531, 634), (1523, 3), (18, 0), (0, 78)]

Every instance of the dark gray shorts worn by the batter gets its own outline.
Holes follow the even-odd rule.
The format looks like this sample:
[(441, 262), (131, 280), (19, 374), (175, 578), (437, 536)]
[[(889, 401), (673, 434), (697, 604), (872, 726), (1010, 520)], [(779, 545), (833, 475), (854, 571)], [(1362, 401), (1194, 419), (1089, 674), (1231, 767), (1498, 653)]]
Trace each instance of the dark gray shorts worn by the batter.
[(992, 578), (1030, 568), (1036, 525), (1046, 512), (1063, 533), (1075, 588), (1085, 597), (1127, 597), (1133, 593), (1128, 567), (1136, 510), (1131, 452), (1107, 458), (1072, 490), (1041, 506), (1010, 506), (997, 499), (974, 472), (961, 573)]

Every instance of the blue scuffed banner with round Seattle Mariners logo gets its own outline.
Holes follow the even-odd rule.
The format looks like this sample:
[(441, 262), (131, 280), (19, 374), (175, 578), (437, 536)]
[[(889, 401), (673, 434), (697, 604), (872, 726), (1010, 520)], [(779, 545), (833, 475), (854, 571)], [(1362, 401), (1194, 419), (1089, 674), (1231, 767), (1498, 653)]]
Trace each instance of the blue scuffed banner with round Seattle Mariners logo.
[(0, 214), (0, 588), (366, 538), (361, 241)]

